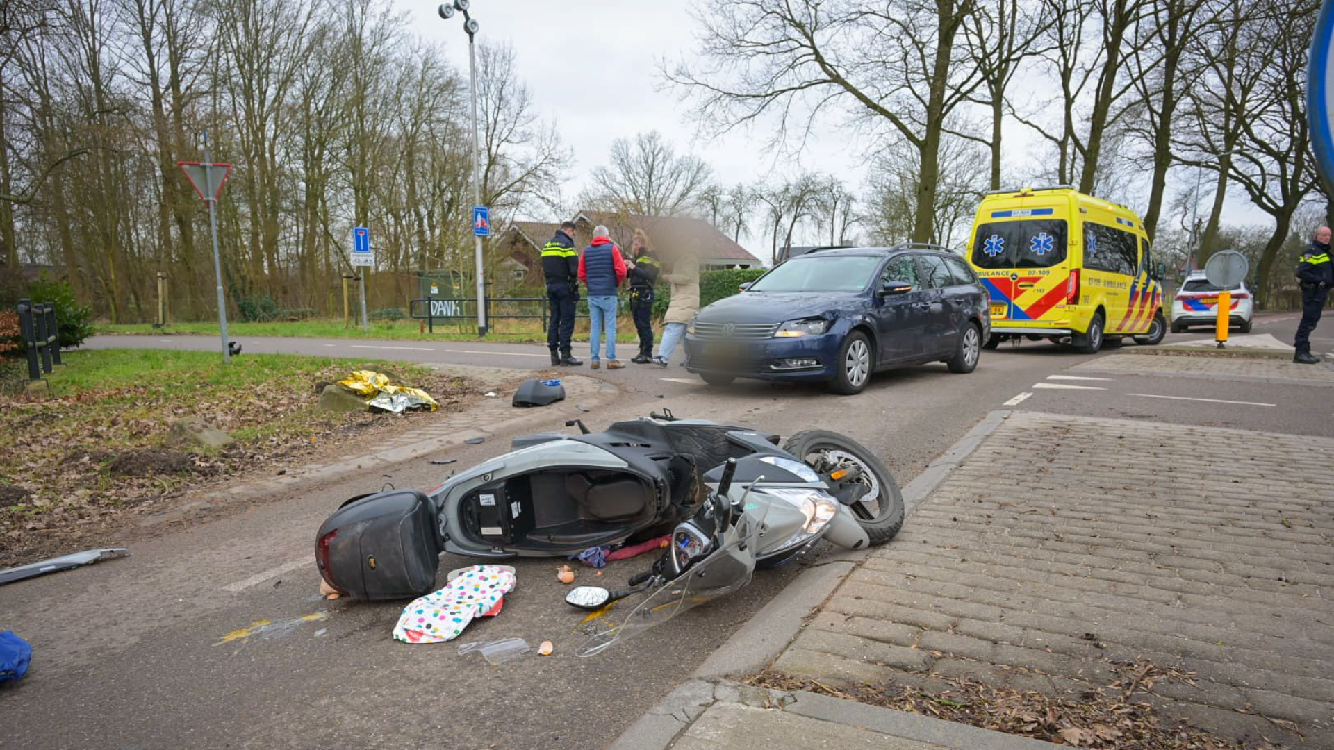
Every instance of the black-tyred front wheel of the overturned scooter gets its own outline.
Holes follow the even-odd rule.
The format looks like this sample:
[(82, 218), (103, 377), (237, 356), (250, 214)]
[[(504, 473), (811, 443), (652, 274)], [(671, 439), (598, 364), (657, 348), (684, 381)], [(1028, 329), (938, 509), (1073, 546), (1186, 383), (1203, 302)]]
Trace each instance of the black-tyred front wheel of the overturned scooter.
[(783, 442), (783, 450), (820, 474), (852, 464), (860, 470), (858, 482), (868, 486), (852, 503), (852, 518), (871, 539), (871, 546), (888, 542), (903, 527), (903, 495), (884, 463), (866, 446), (828, 430), (803, 430)]

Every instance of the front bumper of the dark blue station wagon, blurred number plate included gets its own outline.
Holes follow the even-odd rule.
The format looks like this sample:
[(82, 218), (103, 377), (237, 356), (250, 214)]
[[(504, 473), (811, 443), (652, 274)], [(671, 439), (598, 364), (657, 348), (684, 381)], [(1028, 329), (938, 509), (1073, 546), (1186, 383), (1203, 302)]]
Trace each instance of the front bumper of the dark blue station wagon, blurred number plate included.
[(686, 334), (686, 370), (762, 380), (828, 380), (840, 334), (796, 339), (700, 339)]

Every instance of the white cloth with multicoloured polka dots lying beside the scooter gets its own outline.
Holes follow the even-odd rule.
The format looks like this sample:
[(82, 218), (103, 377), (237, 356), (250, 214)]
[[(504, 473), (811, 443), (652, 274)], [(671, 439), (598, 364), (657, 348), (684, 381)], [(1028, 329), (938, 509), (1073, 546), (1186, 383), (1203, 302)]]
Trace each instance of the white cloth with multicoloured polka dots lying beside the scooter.
[(474, 618), (498, 610), (502, 597), (514, 591), (514, 573), (492, 565), (475, 565), (448, 586), (414, 599), (394, 626), (394, 639), (404, 643), (452, 641)]

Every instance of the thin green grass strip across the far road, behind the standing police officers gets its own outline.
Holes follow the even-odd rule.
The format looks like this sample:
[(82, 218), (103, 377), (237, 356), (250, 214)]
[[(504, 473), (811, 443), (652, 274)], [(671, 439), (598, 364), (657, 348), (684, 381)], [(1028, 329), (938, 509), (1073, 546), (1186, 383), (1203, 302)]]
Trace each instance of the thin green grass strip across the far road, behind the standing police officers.
[[(107, 335), (217, 335), (217, 323), (172, 323), (153, 328), (148, 323), (99, 323), (97, 334)], [(375, 320), (370, 331), (359, 326), (346, 327), (342, 320), (292, 320), (279, 323), (228, 323), (229, 336), (285, 336), (305, 339), (391, 339), (414, 342), (498, 342), (546, 343), (547, 332), (536, 320), (494, 320), (486, 336), (478, 338), (474, 323), (467, 326), (436, 323), (435, 332), (427, 332), (418, 320)], [(656, 334), (662, 335), (660, 330)], [(588, 340), (588, 320), (575, 322), (575, 340)], [(635, 326), (628, 318), (616, 323), (616, 342), (636, 342)]]

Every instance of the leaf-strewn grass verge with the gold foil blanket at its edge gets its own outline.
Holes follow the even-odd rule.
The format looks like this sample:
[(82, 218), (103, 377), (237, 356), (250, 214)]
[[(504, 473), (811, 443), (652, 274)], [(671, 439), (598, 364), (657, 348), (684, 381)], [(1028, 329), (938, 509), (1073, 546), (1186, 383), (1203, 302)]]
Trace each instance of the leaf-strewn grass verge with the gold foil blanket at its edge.
[[(71, 548), (125, 511), (156, 506), (209, 479), (291, 463), (350, 435), (392, 430), (458, 407), (475, 388), (423, 367), (382, 360), (215, 352), (63, 352), (43, 391), (0, 394), (0, 565)], [(351, 370), (374, 368), (426, 388), (442, 412), (403, 416), (315, 408)], [(227, 431), (221, 448), (168, 447), (171, 423), (197, 416)], [(374, 440), (372, 440), (374, 442)]]

